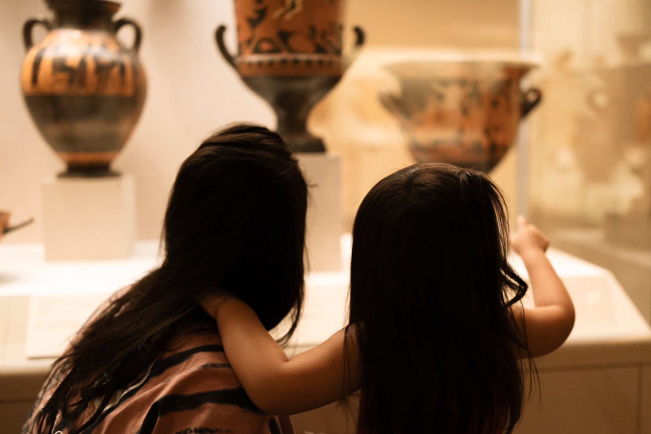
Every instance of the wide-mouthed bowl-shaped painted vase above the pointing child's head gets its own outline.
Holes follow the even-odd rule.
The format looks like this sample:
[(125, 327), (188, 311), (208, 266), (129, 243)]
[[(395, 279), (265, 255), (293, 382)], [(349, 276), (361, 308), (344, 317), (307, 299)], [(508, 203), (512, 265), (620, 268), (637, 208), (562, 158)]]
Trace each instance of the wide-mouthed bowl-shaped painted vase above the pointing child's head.
[(492, 61), (415, 61), (385, 66), (400, 95), (380, 101), (400, 120), (419, 162), (441, 161), (489, 172), (513, 143), (521, 118), (541, 98), (520, 90), (533, 65)]

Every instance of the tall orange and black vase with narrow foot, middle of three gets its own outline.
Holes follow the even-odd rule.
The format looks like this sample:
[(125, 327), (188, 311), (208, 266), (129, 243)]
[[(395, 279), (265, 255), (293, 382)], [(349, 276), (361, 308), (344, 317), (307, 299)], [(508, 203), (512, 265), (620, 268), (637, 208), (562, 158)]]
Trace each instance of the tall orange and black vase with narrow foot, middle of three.
[(344, 0), (234, 0), (238, 55), (230, 55), (221, 25), (221, 54), (244, 83), (270, 103), (278, 133), (296, 152), (324, 152), (305, 128), (307, 115), (339, 82), (364, 43), (355, 27), (353, 55), (342, 55)]

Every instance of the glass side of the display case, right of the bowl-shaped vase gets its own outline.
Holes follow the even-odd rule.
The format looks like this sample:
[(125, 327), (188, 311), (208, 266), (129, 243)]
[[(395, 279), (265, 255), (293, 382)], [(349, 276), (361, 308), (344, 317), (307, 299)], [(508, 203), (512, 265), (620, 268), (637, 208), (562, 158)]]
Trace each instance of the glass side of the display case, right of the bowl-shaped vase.
[(651, 319), (651, 3), (536, 1), (529, 210), (557, 247), (611, 270)]

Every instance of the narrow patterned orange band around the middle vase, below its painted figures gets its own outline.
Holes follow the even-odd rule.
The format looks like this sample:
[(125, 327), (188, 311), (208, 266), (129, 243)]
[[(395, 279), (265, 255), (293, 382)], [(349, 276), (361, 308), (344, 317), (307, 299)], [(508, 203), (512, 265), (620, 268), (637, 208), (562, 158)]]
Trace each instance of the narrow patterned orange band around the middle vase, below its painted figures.
[(252, 75), (327, 75), (340, 77), (344, 64), (340, 55), (277, 53), (240, 57), (237, 69), (242, 77)]

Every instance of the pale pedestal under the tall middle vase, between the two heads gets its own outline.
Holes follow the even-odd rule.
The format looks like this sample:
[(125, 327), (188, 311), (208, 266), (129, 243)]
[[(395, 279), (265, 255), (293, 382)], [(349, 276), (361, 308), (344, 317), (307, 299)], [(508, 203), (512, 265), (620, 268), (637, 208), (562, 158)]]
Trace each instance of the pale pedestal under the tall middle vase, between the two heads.
[(341, 162), (337, 155), (295, 154), (308, 185), (305, 247), (311, 271), (341, 269)]

